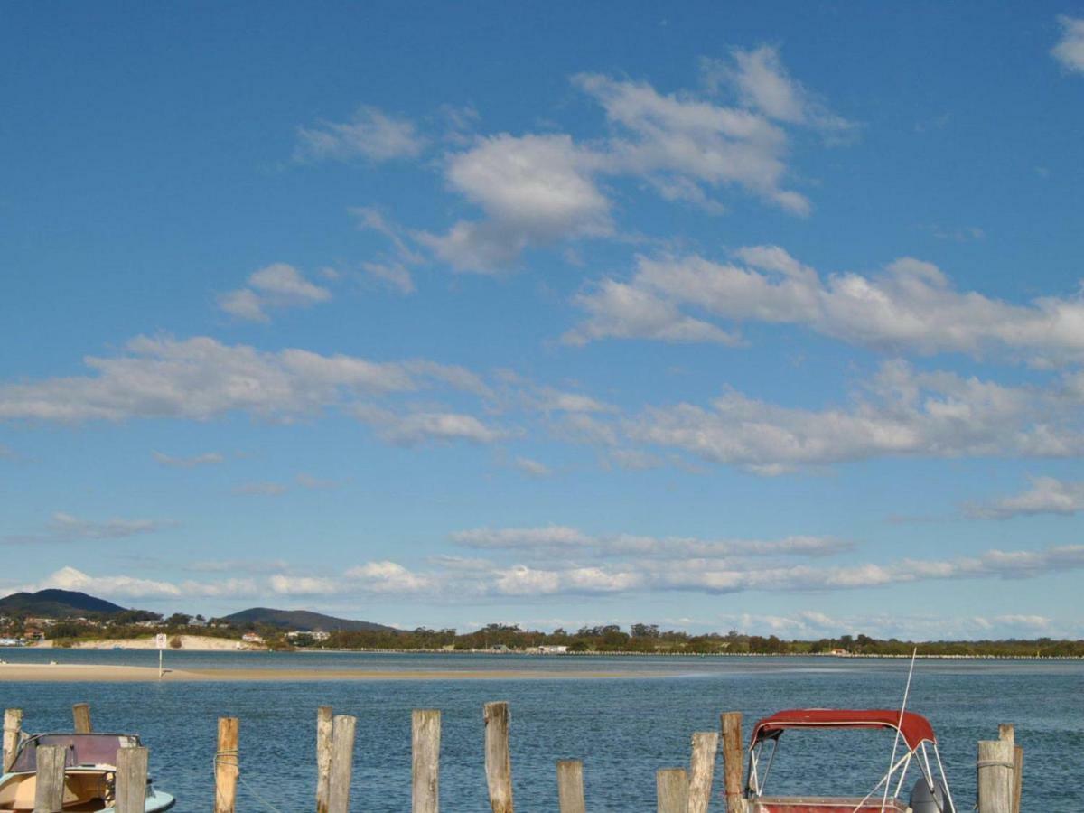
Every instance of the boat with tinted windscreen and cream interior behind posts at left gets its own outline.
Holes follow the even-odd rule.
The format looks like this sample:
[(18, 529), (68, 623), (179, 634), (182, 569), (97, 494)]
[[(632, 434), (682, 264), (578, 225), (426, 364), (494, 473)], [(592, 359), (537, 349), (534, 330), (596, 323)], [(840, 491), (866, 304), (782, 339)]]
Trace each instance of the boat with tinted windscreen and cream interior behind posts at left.
[[(139, 747), (134, 734), (37, 734), (26, 737), (15, 752), (11, 770), (0, 775), (0, 811), (33, 811), (37, 787), (39, 746), (67, 749), (64, 767), (64, 813), (113, 813), (116, 795), (117, 751)], [(145, 813), (173, 806), (169, 793), (146, 780)]]

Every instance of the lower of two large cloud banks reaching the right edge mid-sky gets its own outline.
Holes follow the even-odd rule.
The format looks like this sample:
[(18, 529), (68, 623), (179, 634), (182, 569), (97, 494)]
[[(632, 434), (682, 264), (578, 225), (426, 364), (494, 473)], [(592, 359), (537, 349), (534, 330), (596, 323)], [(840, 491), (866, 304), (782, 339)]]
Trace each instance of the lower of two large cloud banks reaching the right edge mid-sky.
[(1074, 456), (1080, 400), (886, 362), (847, 409), (806, 410), (725, 392), (710, 405), (648, 408), (630, 438), (760, 474), (883, 456)]

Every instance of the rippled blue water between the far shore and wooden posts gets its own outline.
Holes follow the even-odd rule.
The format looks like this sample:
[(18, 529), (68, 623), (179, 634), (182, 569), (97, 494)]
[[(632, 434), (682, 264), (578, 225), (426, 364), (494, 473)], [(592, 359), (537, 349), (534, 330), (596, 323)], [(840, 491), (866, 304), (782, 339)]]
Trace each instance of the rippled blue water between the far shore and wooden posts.
[[(11, 662), (156, 666), (153, 651), (0, 650)], [(518, 810), (556, 811), (555, 761), (581, 759), (588, 808), (650, 811), (655, 771), (688, 763), (694, 731), (718, 730), (719, 712), (753, 720), (795, 707), (894, 707), (906, 680), (903, 660), (834, 658), (525, 657), (166, 653), (176, 669), (289, 668), (531, 670), (560, 680), (433, 680), (327, 683), (0, 683), (0, 707), (20, 706), (28, 731), (69, 730), (70, 706), (88, 701), (95, 728), (136, 732), (151, 748), (159, 787), (178, 811), (214, 797), (217, 719), (241, 718), (245, 780), (238, 810), (312, 810), (315, 710), (358, 718), (352, 810), (410, 810), (411, 709), (442, 710), (441, 808), (489, 809), (483, 771), (482, 705), (512, 705), (512, 763)], [(621, 672), (590, 679), (589, 672)], [(577, 675), (581, 676), (577, 676)], [(1024, 747), (1023, 810), (1084, 813), (1084, 662), (919, 661), (909, 708), (926, 714), (941, 744), (957, 810), (975, 801), (976, 743), (1016, 724)], [(770, 790), (859, 792), (883, 773), (887, 732), (788, 732)], [(712, 810), (722, 773), (717, 766)]]

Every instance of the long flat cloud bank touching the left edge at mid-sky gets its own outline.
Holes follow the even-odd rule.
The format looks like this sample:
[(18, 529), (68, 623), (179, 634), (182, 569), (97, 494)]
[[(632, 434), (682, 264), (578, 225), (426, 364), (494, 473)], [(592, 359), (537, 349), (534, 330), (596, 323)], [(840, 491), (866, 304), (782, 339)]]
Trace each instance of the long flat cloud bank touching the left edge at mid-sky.
[(140, 336), (119, 356), (87, 357), (85, 363), (93, 375), (0, 384), (0, 421), (206, 421), (231, 412), (289, 420), (362, 395), (411, 392), (435, 382), (486, 391), (476, 375), (453, 365), (300, 349), (263, 352), (208, 337)]

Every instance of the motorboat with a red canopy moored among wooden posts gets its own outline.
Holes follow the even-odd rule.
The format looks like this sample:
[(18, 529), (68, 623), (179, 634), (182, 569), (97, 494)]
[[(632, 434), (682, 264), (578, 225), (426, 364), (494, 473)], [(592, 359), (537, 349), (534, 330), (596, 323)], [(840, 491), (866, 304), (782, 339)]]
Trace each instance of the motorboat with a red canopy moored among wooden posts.
[[(783, 732), (792, 728), (894, 731), (888, 771), (865, 797), (769, 796), (765, 784), (779, 739)], [(904, 799), (901, 793), (912, 767), (919, 775)], [(909, 773), (914, 775), (915, 771)], [(789, 709), (763, 718), (753, 726), (749, 744), (745, 798), (749, 813), (955, 813), (933, 727), (921, 714), (899, 709)]]

